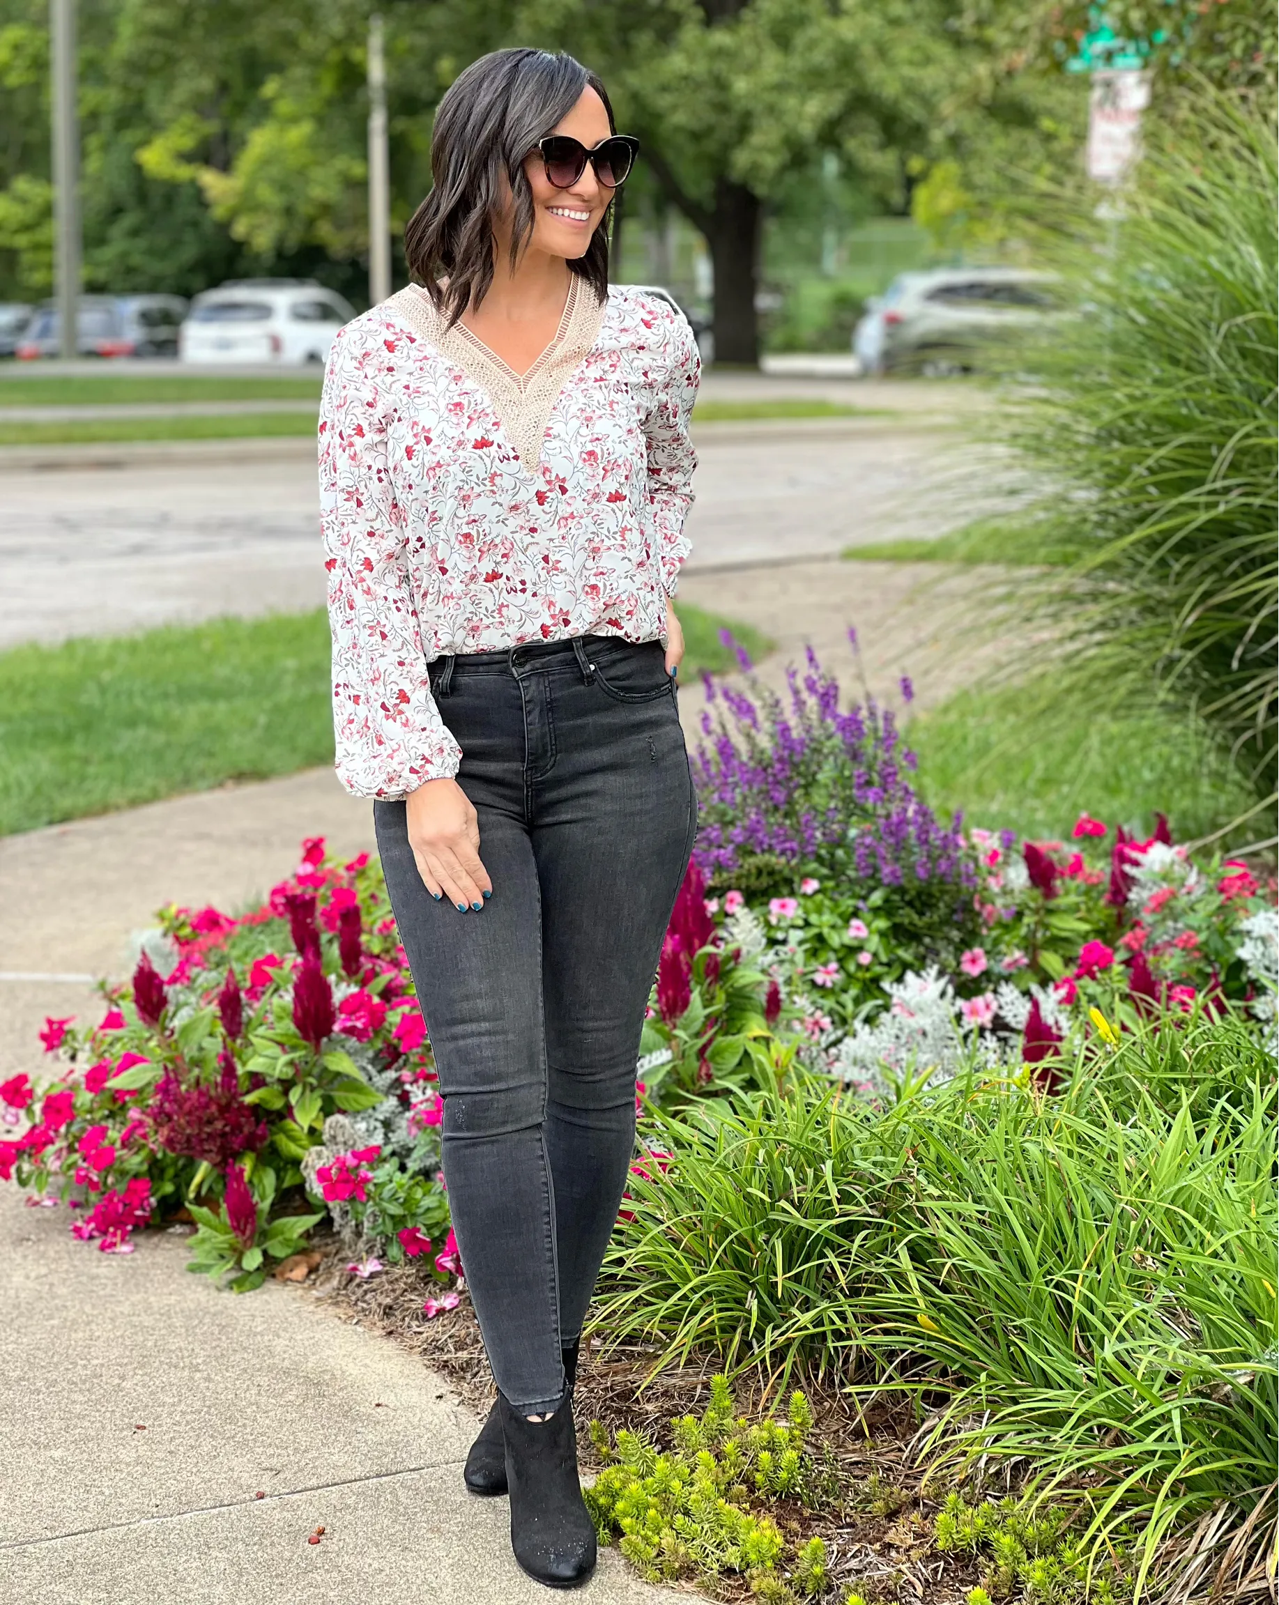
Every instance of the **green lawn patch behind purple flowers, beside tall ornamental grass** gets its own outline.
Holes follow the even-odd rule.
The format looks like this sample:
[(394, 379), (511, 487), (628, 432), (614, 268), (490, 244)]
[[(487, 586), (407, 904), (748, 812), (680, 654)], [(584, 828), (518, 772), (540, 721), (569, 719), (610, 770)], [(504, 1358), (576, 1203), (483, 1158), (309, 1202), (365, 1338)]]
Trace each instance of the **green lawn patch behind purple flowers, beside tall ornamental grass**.
[[(1069, 836), (1080, 814), (1149, 833), (1155, 811), (1173, 836), (1207, 836), (1253, 804), (1229, 766), (1175, 714), (1062, 701), (1051, 681), (961, 692), (910, 725), (920, 786), (969, 825)], [(1257, 839), (1242, 827), (1236, 844)]]

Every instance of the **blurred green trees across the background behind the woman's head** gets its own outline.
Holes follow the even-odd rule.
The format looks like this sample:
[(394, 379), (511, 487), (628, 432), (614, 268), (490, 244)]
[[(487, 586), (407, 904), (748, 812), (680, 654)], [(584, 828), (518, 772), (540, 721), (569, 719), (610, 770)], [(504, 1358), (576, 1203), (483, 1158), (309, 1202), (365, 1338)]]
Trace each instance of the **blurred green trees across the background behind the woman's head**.
[[(485, 50), (595, 66), (645, 160), (618, 278), (714, 300), (721, 360), (846, 350), (903, 268), (1025, 254), (1029, 181), (1078, 172), (1090, 27), (1059, 0), (380, 0), (393, 225), (440, 95)], [(45, 0), (0, 0), (0, 299), (48, 294)], [(82, 0), (90, 289), (313, 276), (363, 305), (367, 0)], [(1131, 0), (1157, 74), (1274, 95), (1276, 0)]]

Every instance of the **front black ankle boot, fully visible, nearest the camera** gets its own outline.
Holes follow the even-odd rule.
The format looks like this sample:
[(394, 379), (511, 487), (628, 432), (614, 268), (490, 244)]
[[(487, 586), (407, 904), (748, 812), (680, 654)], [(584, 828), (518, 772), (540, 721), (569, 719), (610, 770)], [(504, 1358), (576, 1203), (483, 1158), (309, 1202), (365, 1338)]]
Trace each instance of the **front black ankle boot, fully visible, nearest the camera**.
[(578, 1477), (573, 1398), (550, 1420), (528, 1420), (499, 1393), (510, 1491), (510, 1547), (520, 1566), (552, 1589), (586, 1583), (595, 1570), (595, 1525)]

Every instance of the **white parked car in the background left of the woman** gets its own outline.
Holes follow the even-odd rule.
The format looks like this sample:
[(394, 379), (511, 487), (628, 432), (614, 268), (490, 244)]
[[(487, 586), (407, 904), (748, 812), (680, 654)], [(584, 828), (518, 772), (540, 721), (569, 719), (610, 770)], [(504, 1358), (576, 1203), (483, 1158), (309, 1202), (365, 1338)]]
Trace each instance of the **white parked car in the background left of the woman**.
[(313, 279), (231, 279), (191, 302), (178, 356), (183, 363), (323, 363), (351, 318), (351, 303)]

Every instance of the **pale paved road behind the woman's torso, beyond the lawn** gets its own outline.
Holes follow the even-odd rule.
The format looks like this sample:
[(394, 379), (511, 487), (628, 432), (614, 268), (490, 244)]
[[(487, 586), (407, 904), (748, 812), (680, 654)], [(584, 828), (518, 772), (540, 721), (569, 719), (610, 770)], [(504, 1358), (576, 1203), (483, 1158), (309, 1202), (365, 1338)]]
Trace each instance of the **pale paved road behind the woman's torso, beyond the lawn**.
[[(990, 504), (928, 414), (704, 424), (696, 441), (690, 573), (936, 536)], [(0, 472), (0, 647), (323, 603), (307, 441), (21, 461)]]

